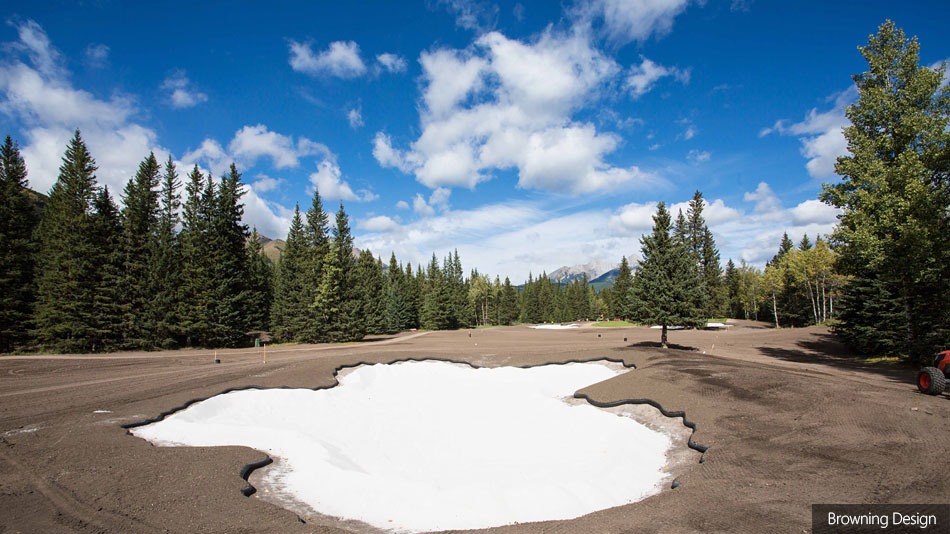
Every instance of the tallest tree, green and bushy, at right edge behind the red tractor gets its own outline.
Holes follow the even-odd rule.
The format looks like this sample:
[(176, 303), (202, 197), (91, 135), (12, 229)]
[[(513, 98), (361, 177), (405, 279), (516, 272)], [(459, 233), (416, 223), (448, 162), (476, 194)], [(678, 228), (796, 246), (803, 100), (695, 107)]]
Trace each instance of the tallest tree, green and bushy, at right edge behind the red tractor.
[[(831, 241), (849, 313), (838, 331), (863, 352), (881, 346), (923, 359), (950, 343), (950, 87), (946, 65), (922, 67), (920, 45), (886, 21), (860, 48), (868, 70), (844, 129), (849, 154), (821, 199), (843, 210)], [(901, 317), (900, 335), (867, 329)]]

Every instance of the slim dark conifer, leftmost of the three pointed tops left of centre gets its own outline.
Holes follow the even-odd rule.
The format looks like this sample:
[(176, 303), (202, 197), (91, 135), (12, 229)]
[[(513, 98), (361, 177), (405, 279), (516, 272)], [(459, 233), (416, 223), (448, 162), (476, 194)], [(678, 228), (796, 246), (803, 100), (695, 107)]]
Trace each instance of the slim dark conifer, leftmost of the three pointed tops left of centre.
[[(271, 324), (274, 335), (283, 343), (304, 341), (303, 332), (312, 311), (314, 300), (307, 300), (308, 291), (304, 291), (304, 261), (307, 252), (303, 234), (303, 221), (300, 206), (294, 210), (290, 222), (287, 244), (277, 264), (274, 283), (274, 304)], [(318, 288), (319, 289), (319, 288)]]

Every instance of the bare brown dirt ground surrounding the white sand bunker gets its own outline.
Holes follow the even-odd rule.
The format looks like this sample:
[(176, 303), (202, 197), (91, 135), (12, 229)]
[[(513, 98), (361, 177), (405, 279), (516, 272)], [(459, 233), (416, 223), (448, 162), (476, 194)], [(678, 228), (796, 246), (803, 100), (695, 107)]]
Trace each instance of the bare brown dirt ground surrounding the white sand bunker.
[[(855, 363), (824, 328), (738, 322), (673, 331), (527, 327), (401, 334), (348, 345), (0, 357), (0, 532), (346, 532), (244, 497), (243, 447), (154, 447), (120, 425), (247, 385), (332, 384), (339, 365), (415, 357), (487, 366), (622, 358), (582, 390), (685, 410), (709, 446), (682, 485), (569, 521), (493, 533), (808, 532), (813, 503), (946, 503), (950, 398), (912, 369)], [(627, 341), (624, 341), (624, 338)], [(698, 459), (698, 455), (694, 455)], [(328, 481), (332, 483), (332, 481)]]

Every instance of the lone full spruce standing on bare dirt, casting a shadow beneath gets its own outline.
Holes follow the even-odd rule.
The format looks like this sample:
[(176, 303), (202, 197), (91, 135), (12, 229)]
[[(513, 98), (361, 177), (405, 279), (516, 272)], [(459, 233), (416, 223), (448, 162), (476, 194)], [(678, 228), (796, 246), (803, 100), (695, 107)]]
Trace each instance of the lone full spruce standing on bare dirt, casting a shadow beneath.
[(702, 286), (695, 257), (686, 244), (670, 235), (670, 214), (663, 202), (653, 216), (653, 233), (640, 242), (643, 259), (634, 285), (638, 317), (663, 327), (660, 343), (666, 348), (668, 326), (705, 324), (702, 310), (696, 305), (701, 300)]

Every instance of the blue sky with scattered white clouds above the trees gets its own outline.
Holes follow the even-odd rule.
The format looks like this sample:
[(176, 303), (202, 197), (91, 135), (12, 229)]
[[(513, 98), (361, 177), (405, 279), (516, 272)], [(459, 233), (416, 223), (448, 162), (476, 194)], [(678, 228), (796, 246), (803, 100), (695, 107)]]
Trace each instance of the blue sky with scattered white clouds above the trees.
[[(829, 5), (830, 4), (830, 5)], [(548, 272), (639, 254), (696, 189), (723, 263), (828, 233), (857, 47), (892, 19), (950, 57), (945, 2), (21, 3), (0, 26), (0, 133), (34, 189), (80, 128), (121, 191), (149, 151), (250, 184), (284, 237), (319, 188), (357, 246)]]

